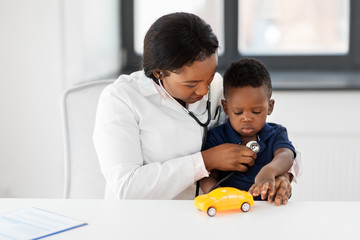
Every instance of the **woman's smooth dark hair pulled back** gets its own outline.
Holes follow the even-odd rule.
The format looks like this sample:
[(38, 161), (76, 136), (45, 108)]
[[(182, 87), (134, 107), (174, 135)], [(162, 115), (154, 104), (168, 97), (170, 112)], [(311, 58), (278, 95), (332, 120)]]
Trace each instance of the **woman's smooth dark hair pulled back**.
[(210, 25), (200, 17), (184, 12), (162, 16), (145, 35), (145, 75), (157, 83), (155, 70), (161, 70), (164, 76), (168, 76), (169, 71), (179, 72), (183, 66), (210, 57), (218, 47)]

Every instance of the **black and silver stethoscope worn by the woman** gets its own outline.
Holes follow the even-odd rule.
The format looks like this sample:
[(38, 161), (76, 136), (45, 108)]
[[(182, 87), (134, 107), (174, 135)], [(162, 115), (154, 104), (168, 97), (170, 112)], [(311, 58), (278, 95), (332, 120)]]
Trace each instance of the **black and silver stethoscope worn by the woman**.
[[(160, 78), (158, 78), (158, 83), (159, 83), (159, 86), (161, 87), (161, 89), (175, 102), (178, 102), (176, 101), (175, 98), (173, 98), (173, 96), (171, 96), (164, 88), (164, 86), (162, 85), (161, 83), (161, 80)], [(208, 133), (208, 125), (210, 124), (210, 121), (211, 121), (211, 92), (210, 92), (210, 87), (209, 87), (209, 92), (208, 92), (208, 100), (206, 102), (206, 111), (208, 113), (208, 117), (207, 117), (207, 120), (202, 123), (196, 116), (193, 112), (189, 111), (187, 108), (185, 108), (184, 106), (182, 106), (180, 103), (179, 105), (182, 107), (182, 109), (187, 113), (189, 114), (190, 117), (192, 117), (201, 127), (204, 128), (204, 135), (203, 135), (203, 140), (202, 140), (202, 145), (201, 145), (201, 151), (204, 150), (205, 148), (205, 142), (206, 142), (206, 137), (207, 137), (207, 133)], [(219, 114), (221, 110), (221, 107), (218, 106), (216, 108), (216, 111), (215, 111), (215, 118), (216, 116)], [(218, 120), (217, 122), (219, 121), (219, 118), (220, 118), (220, 115), (218, 116)], [(250, 148), (252, 151), (254, 151), (255, 153), (258, 153), (260, 151), (260, 144), (257, 142), (257, 141), (250, 141), (246, 144), (246, 146), (248, 148)], [(224, 177), (223, 179), (221, 179), (220, 181), (218, 181), (210, 190), (209, 192), (211, 192), (212, 190), (214, 190), (215, 188), (217, 188), (221, 183), (223, 183), (226, 179), (228, 179), (229, 177), (231, 177), (233, 174), (235, 173), (234, 172), (231, 172), (229, 175), (227, 175), (226, 177)], [(199, 190), (200, 190), (200, 183), (199, 181), (196, 182), (196, 192), (195, 192), (195, 197), (199, 195)]]

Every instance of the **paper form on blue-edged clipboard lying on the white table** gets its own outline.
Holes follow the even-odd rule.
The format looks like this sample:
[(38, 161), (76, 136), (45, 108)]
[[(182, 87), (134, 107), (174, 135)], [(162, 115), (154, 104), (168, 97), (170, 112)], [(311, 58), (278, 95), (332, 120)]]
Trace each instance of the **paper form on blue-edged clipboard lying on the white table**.
[(0, 240), (41, 239), (87, 223), (38, 208), (0, 214)]

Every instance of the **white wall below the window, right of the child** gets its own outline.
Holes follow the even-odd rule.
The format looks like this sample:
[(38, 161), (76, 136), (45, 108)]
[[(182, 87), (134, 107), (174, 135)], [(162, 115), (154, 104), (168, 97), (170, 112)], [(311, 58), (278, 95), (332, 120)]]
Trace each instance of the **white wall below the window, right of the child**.
[(302, 154), (297, 200), (360, 201), (360, 91), (275, 91), (269, 117)]

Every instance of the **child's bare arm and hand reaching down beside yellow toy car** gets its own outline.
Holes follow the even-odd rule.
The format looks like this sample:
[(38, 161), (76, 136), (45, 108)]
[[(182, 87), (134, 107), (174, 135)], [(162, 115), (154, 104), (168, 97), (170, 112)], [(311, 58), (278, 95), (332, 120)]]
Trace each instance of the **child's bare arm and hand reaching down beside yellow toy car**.
[(294, 153), (289, 148), (279, 148), (274, 153), (273, 160), (265, 165), (255, 177), (255, 183), (249, 192), (253, 196), (259, 196), (271, 200), (275, 196), (275, 178), (289, 171), (294, 162)]

